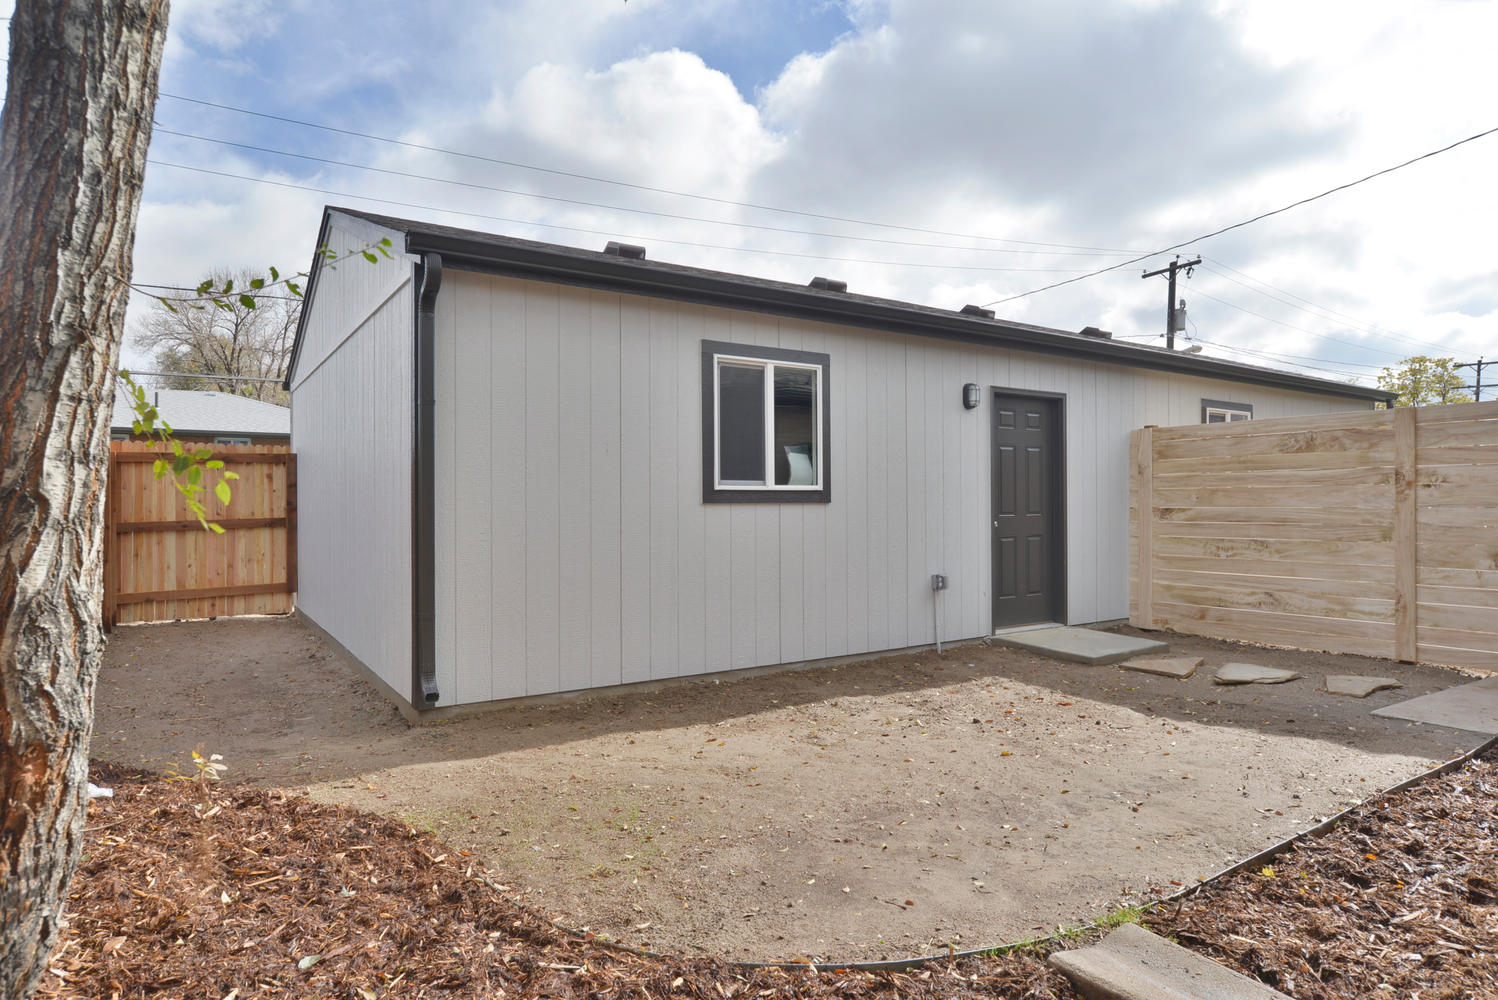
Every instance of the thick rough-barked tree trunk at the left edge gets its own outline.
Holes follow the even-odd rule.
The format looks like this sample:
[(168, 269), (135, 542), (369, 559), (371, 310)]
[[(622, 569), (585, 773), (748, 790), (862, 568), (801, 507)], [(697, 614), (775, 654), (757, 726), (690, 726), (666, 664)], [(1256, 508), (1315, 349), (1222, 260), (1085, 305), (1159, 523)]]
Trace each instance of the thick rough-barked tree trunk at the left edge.
[(166, 0), (21, 0), (0, 114), (0, 997), (82, 846), (109, 410)]

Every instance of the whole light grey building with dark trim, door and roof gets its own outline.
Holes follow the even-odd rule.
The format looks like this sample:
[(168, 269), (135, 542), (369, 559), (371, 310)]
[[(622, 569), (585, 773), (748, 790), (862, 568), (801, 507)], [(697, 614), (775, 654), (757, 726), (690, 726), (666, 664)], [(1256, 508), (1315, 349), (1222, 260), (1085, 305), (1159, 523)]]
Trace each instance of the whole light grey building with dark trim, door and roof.
[(309, 283), (298, 603), (418, 710), (1124, 618), (1129, 430), (1389, 398), (628, 247), (324, 216), (337, 253), (385, 238), (394, 260)]

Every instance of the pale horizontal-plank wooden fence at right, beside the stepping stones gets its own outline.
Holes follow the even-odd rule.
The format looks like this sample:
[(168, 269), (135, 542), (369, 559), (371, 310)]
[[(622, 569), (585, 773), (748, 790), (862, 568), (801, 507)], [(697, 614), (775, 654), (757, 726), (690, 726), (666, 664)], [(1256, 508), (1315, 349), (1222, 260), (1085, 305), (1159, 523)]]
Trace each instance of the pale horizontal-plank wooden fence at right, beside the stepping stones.
[(1498, 403), (1131, 446), (1134, 626), (1498, 669)]

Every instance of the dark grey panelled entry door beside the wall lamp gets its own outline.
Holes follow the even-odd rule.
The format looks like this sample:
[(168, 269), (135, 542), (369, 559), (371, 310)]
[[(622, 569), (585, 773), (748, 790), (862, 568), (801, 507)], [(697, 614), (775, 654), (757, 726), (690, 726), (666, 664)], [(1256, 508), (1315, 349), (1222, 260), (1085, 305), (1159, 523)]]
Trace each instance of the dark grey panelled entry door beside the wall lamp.
[(1062, 621), (1061, 400), (993, 397), (993, 627)]

